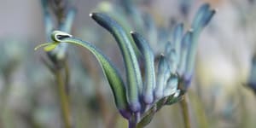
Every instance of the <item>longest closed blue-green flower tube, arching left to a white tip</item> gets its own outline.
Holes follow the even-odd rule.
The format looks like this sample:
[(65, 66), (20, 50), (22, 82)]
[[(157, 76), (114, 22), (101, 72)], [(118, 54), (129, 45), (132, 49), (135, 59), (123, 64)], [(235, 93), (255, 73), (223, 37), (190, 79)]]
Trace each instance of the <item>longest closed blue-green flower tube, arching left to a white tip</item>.
[(120, 26), (119, 23), (111, 19), (108, 15), (93, 13), (90, 14), (90, 17), (96, 20), (99, 25), (106, 28), (119, 44), (119, 49), (121, 49), (125, 61), (127, 102), (129, 102), (132, 111), (135, 113), (140, 111), (141, 103), (139, 98), (143, 91), (143, 81), (137, 62), (137, 56), (128, 37), (130, 35), (125, 32), (124, 28)]

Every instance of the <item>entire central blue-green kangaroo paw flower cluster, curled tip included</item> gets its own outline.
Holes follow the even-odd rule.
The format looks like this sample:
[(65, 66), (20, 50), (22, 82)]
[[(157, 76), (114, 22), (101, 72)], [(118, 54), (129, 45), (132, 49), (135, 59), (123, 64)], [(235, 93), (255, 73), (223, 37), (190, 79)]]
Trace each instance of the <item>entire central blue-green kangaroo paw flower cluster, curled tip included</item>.
[[(189, 31), (184, 32), (182, 24), (175, 26), (172, 39), (166, 44), (164, 54), (160, 55), (158, 65), (155, 64), (154, 51), (143, 35), (126, 32), (123, 26), (106, 14), (90, 14), (118, 43), (125, 63), (126, 81), (101, 50), (65, 32), (53, 32), (53, 43), (39, 47), (46, 45), (45, 49), (49, 51), (60, 43), (67, 43), (89, 49), (102, 66), (119, 113), (129, 120), (130, 127), (144, 126), (164, 105), (171, 105), (182, 99), (193, 74), (199, 34), (214, 14), (215, 10), (210, 9), (209, 4), (204, 4), (195, 15)], [(143, 58), (143, 70), (138, 63), (139, 57)]]

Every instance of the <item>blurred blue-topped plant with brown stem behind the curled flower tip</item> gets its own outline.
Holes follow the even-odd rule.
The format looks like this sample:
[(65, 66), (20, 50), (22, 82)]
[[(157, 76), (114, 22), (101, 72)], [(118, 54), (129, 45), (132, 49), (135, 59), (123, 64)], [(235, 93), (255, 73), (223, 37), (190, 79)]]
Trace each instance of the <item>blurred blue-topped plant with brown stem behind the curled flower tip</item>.
[[(71, 32), (75, 9), (70, 7), (69, 1), (41, 0), (41, 2), (44, 12), (45, 35), (48, 36), (55, 29), (63, 32)], [(52, 40), (48, 38), (48, 41), (51, 42)], [(55, 74), (64, 127), (71, 128), (72, 122), (68, 102), (70, 72), (67, 63), (67, 44), (59, 45), (55, 50), (47, 52), (47, 55), (49, 61), (46, 61), (45, 64)]]

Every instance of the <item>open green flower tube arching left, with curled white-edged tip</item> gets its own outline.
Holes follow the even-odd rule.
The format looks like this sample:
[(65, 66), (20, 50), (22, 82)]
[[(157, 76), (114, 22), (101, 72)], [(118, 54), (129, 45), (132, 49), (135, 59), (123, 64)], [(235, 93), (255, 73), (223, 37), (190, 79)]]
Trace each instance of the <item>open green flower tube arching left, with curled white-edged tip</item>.
[(119, 108), (120, 113), (125, 118), (130, 118), (130, 110), (128, 109), (127, 101), (125, 98), (125, 84), (121, 79), (119, 72), (117, 71), (115, 66), (113, 66), (112, 62), (108, 61), (109, 59), (105, 55), (103, 55), (99, 49), (96, 49), (93, 44), (81, 41), (78, 38), (72, 38), (72, 36), (70, 34), (67, 34), (66, 32), (55, 31), (52, 33), (51, 38), (54, 42), (48, 44), (41, 44), (37, 48), (35, 48), (35, 50), (39, 47), (45, 46), (44, 50), (50, 51), (55, 49), (58, 44), (61, 44), (63, 42), (67, 44), (77, 44), (84, 47), (85, 49), (89, 49), (90, 52), (96, 56), (97, 60), (102, 66), (104, 74), (108, 79), (108, 83), (113, 90), (113, 96), (117, 108)]

